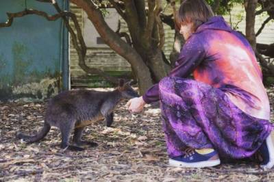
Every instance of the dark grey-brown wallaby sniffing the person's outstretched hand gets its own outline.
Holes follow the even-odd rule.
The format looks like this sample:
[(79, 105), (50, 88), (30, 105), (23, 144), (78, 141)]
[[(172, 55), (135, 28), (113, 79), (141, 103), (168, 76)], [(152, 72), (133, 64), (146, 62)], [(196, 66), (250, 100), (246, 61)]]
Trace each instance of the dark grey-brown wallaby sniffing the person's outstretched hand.
[[(119, 80), (119, 86), (111, 92), (95, 90), (69, 90), (61, 92), (49, 100), (45, 114), (44, 127), (33, 136), (18, 133), (17, 138), (27, 143), (38, 142), (49, 133), (52, 126), (61, 132), (61, 148), (73, 151), (83, 151), (83, 144), (97, 146), (95, 142), (83, 141), (84, 127), (92, 122), (105, 119), (105, 125), (110, 127), (113, 122), (113, 109), (122, 99), (132, 99), (138, 96), (130, 83)], [(73, 145), (69, 145), (69, 136), (74, 128)]]

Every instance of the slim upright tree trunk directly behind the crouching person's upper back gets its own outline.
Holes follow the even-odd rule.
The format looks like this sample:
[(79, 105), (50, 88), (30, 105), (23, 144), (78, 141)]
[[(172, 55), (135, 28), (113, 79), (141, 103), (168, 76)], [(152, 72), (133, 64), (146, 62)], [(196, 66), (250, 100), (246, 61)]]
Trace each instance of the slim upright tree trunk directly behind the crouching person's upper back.
[(247, 14), (245, 18), (245, 36), (254, 51), (256, 50), (255, 16), (257, 3), (258, 0), (245, 0), (245, 12)]

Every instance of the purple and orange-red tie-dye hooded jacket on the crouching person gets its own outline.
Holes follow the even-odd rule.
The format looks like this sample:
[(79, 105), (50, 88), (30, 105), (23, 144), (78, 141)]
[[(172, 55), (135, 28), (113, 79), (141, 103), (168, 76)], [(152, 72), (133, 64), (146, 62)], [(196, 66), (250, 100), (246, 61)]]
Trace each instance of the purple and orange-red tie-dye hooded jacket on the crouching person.
[[(188, 77), (223, 90), (243, 112), (270, 120), (269, 99), (262, 72), (247, 40), (232, 30), (223, 17), (200, 25), (182, 47), (171, 77)], [(159, 100), (155, 84), (142, 96), (146, 103)]]

